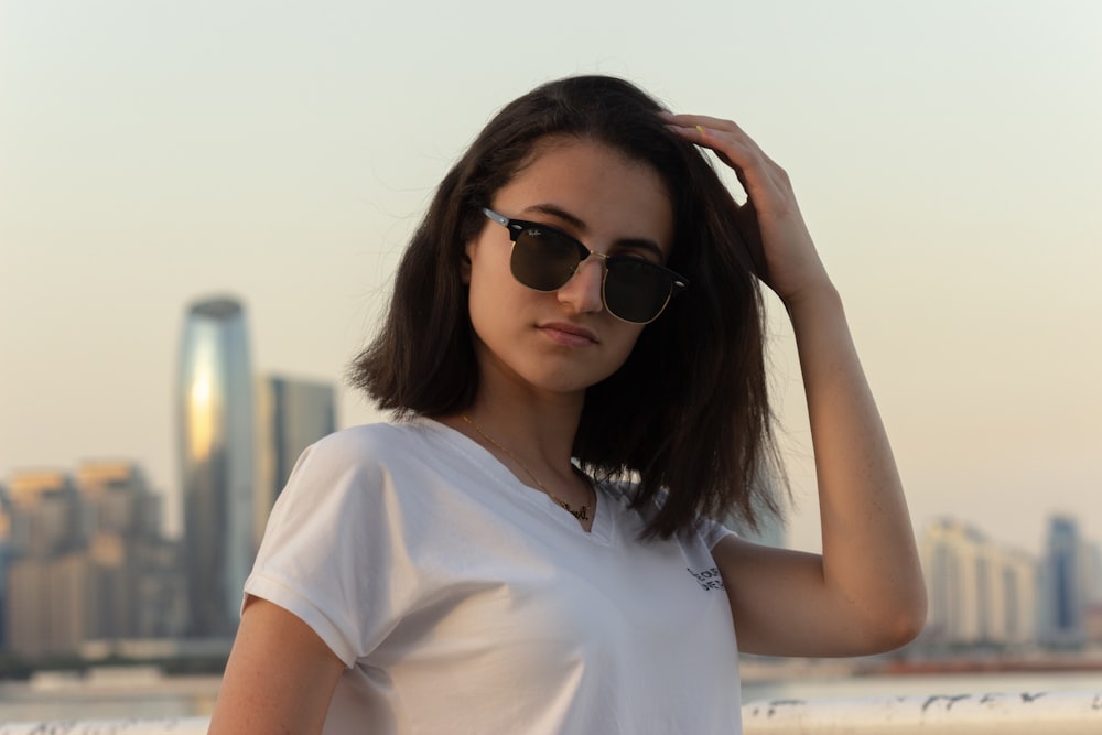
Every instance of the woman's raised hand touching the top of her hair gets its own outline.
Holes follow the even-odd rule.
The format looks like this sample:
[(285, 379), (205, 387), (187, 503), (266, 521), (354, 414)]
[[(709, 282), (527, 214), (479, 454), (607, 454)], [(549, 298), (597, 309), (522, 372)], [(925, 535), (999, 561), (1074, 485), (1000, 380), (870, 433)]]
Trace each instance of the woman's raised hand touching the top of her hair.
[(788, 173), (731, 120), (670, 114), (662, 118), (670, 130), (714, 151), (734, 170), (747, 195), (737, 212), (738, 224), (752, 255), (765, 266), (769, 288), (791, 304), (801, 294), (829, 285)]

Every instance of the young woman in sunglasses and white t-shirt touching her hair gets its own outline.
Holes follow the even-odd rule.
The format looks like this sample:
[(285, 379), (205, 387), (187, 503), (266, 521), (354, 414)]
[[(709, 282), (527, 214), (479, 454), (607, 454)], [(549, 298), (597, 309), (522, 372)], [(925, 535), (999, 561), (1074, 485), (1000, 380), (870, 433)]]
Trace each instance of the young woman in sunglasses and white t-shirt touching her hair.
[[(799, 346), (822, 555), (714, 520), (776, 508), (758, 279)], [(730, 734), (738, 650), (865, 655), (921, 627), (841, 301), (733, 122), (607, 77), (507, 106), (441, 184), (353, 378), (396, 421), (300, 460), (214, 733)]]

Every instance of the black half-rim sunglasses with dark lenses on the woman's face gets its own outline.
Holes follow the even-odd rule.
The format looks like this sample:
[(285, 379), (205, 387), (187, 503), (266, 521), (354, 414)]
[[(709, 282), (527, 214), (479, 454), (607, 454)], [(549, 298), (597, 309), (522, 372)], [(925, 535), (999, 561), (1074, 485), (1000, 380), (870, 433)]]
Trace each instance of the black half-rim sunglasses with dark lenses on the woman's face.
[(590, 256), (605, 261), (601, 299), (608, 313), (624, 322), (647, 324), (658, 318), (670, 299), (689, 281), (669, 268), (635, 256), (594, 252), (577, 238), (539, 223), (509, 219), (483, 207), (483, 214), (509, 230), (512, 277), (536, 291), (558, 291)]

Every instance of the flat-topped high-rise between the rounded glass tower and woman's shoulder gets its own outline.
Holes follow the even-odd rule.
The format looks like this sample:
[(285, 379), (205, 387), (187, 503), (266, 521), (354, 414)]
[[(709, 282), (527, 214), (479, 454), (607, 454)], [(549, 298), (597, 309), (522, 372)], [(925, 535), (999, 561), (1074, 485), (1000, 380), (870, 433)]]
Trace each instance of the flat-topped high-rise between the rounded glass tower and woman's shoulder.
[(336, 429), (332, 383), (278, 376), (257, 379), (257, 495), (253, 532), (259, 548), (268, 514), (307, 446)]

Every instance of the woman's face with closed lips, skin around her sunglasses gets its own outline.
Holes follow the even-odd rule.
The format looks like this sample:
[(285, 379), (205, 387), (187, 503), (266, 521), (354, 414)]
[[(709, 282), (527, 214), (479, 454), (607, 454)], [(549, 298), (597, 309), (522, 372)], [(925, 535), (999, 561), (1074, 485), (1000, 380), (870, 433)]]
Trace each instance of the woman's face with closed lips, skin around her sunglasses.
[[(563, 230), (599, 253), (665, 262), (672, 246), (673, 213), (658, 174), (587, 140), (548, 141), (485, 204)], [(644, 325), (604, 309), (602, 259), (591, 256), (562, 288), (542, 292), (514, 278), (511, 250), (508, 229), (489, 219), (466, 246), (479, 389), (505, 380), (536, 392), (580, 392), (615, 372)]]

